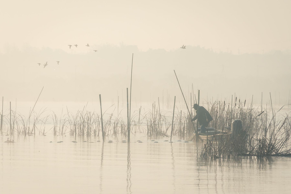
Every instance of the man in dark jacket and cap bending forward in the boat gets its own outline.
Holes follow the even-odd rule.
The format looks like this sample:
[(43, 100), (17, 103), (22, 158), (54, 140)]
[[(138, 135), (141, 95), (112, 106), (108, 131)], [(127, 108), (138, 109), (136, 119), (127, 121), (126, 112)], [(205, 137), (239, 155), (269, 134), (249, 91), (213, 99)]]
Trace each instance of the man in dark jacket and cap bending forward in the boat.
[(194, 104), (193, 107), (196, 110), (196, 116), (191, 120), (192, 122), (198, 119), (199, 124), (201, 125), (201, 133), (206, 133), (206, 127), (210, 121), (213, 120), (209, 112), (203, 107)]

